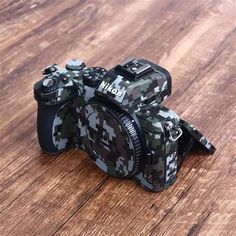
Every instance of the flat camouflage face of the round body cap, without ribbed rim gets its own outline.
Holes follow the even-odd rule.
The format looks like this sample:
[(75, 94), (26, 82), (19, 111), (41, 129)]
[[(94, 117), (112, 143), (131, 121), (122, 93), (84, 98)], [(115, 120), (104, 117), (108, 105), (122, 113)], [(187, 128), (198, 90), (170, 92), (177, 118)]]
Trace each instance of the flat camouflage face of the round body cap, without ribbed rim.
[(115, 177), (128, 177), (137, 163), (130, 135), (119, 114), (106, 106), (88, 104), (80, 122), (86, 127), (89, 150), (96, 165)]

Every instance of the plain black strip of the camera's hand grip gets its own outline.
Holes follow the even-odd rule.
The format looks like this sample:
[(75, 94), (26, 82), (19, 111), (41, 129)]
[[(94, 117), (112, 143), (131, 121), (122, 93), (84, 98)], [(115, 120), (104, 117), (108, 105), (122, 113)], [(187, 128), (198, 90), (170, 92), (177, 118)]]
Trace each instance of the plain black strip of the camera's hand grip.
[(60, 152), (53, 142), (53, 122), (62, 104), (52, 106), (38, 102), (37, 132), (40, 147), (49, 154)]

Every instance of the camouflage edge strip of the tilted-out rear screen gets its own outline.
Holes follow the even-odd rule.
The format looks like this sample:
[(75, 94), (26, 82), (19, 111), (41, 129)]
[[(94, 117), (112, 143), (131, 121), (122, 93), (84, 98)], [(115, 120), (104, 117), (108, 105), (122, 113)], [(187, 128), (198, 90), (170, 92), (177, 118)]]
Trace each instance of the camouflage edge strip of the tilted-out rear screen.
[(202, 135), (193, 125), (189, 124), (185, 120), (180, 120), (180, 125), (182, 128), (186, 129), (190, 135), (210, 154), (213, 154), (216, 150), (214, 145)]

